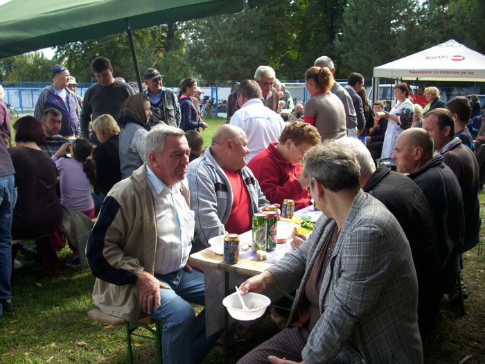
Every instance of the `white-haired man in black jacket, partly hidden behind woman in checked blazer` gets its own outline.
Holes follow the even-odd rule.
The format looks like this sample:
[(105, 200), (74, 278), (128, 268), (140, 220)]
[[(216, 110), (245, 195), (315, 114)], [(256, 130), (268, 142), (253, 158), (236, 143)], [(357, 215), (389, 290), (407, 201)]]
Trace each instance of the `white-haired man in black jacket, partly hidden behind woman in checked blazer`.
[(418, 324), (423, 335), (430, 328), (440, 300), (439, 250), (430, 205), (409, 177), (391, 171), (385, 164), (376, 169), (361, 141), (341, 138), (337, 143), (353, 148), (360, 165), (360, 187), (391, 211), (409, 241), (418, 276)]

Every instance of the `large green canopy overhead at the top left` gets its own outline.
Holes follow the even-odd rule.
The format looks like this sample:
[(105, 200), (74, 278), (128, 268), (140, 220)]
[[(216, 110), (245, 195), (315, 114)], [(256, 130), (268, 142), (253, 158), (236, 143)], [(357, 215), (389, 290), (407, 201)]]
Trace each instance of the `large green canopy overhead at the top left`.
[[(0, 58), (243, 9), (244, 0), (0, 0)], [(249, 6), (265, 3), (249, 0)]]

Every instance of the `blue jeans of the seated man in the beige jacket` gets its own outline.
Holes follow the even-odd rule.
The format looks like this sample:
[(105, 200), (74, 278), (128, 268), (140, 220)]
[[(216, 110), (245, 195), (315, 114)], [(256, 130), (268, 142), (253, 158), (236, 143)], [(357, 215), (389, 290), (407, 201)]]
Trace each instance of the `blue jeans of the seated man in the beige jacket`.
[(191, 304), (204, 304), (204, 274), (184, 269), (155, 277), (172, 289), (160, 289), (161, 306), (152, 318), (164, 324), (161, 350), (165, 363), (200, 363), (220, 336), (206, 338), (205, 310), (195, 316)]

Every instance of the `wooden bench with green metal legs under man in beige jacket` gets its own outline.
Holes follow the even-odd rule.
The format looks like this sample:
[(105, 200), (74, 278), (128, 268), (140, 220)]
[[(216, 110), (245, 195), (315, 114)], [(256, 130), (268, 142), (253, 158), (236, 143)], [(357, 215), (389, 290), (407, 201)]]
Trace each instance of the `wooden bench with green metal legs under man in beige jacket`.
[[(116, 316), (108, 315), (100, 309), (92, 309), (91, 311), (89, 311), (87, 313), (87, 318), (89, 318), (89, 320), (101, 322), (102, 324), (110, 324), (112, 326), (125, 326), (128, 357), (130, 358), (131, 364), (133, 363), (132, 336), (139, 336), (141, 338), (155, 340), (157, 343), (158, 361), (159, 363), (161, 363), (161, 330), (163, 329), (163, 325), (158, 320), (153, 320), (152, 318), (150, 318), (150, 316), (143, 315), (138, 320), (138, 322), (136, 322), (136, 324), (130, 324), (130, 322), (123, 320), (123, 318), (117, 318)], [(150, 326), (151, 324), (155, 324), (155, 329)], [(150, 333), (152, 333), (152, 336), (144, 336), (139, 333), (134, 333), (134, 331), (139, 327), (143, 327), (143, 329), (150, 331)]]

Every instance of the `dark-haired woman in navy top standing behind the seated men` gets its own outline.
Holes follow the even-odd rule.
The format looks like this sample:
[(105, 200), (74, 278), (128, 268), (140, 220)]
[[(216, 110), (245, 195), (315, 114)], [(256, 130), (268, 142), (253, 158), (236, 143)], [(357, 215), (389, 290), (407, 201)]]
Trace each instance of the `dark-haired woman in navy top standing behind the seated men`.
[(195, 108), (192, 96), (197, 91), (197, 81), (192, 77), (184, 78), (180, 83), (179, 91), (179, 104), (180, 113), (182, 115), (182, 121), (180, 122), (180, 128), (186, 132), (187, 130), (197, 130), (207, 128), (207, 124), (204, 121), (200, 121), (199, 113)]

